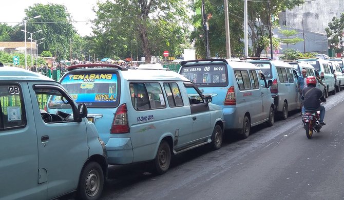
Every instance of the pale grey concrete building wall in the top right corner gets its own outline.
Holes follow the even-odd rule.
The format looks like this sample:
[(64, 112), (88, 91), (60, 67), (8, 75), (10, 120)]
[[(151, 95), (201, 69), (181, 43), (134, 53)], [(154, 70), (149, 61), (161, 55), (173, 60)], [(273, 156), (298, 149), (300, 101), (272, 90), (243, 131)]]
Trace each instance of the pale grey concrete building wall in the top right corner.
[(338, 18), (342, 12), (344, 12), (343, 0), (316, 0), (305, 2), (292, 10), (286, 10), (285, 16), (281, 13), (279, 19), (281, 25), (282, 20), (285, 20), (287, 27), (300, 30), (302, 30), (303, 19), (304, 30), (326, 34), (324, 29), (328, 27), (334, 16)]

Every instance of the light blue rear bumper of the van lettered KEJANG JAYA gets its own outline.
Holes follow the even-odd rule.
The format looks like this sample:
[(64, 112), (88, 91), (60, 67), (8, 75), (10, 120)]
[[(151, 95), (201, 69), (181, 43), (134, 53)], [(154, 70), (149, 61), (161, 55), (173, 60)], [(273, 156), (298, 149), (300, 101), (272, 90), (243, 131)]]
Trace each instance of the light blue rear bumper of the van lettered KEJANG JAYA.
[(108, 164), (122, 165), (132, 163), (133, 152), (130, 138), (110, 138), (105, 146)]

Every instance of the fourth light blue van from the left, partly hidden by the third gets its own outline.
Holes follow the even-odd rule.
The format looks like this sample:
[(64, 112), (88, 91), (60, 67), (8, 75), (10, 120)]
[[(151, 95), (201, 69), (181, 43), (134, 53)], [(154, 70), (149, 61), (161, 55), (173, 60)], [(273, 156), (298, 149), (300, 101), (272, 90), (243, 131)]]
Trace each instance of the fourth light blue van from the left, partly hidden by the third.
[(284, 120), (288, 118), (288, 112), (300, 108), (299, 93), (297, 87), (297, 73), (292, 65), (270, 58), (245, 58), (258, 66), (267, 80), (272, 80), (270, 91), (274, 98), (276, 111)]

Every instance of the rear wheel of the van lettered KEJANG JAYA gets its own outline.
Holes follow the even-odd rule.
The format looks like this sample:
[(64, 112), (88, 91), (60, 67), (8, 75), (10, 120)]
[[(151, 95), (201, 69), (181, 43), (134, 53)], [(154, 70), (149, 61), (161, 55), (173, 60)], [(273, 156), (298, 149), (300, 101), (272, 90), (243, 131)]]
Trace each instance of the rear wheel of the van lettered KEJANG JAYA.
[(163, 174), (168, 170), (169, 164), (171, 163), (171, 150), (166, 141), (162, 141), (158, 148), (157, 155), (154, 160), (155, 172)]

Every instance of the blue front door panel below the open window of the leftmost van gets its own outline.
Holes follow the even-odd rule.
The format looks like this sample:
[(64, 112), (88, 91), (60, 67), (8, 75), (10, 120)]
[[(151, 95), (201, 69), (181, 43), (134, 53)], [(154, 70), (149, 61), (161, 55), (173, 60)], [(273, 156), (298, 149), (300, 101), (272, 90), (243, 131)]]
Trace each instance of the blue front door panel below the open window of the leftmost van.
[[(33, 85), (34, 83), (29, 83), (29, 87), (32, 88)], [(31, 99), (35, 119), (41, 119), (34, 92), (31, 94)], [(64, 128), (73, 131), (61, 131), (62, 123)], [(36, 131), (39, 168), (47, 171), (47, 198), (77, 189), (79, 172), (88, 158), (88, 152), (84, 150), (88, 148), (85, 121), (46, 123), (37, 120)], [(59, 170), (56, 170), (56, 166), (59, 166)]]

